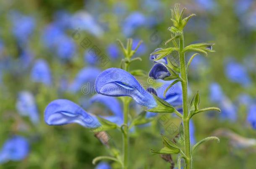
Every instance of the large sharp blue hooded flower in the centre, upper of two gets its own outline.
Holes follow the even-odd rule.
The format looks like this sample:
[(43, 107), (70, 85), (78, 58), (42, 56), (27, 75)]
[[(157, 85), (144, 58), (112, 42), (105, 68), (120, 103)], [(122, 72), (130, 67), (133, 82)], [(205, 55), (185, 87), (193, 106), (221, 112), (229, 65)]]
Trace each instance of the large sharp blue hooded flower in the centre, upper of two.
[(157, 106), (154, 97), (130, 73), (120, 68), (109, 68), (100, 73), (95, 81), (95, 89), (106, 96), (130, 96), (142, 106)]

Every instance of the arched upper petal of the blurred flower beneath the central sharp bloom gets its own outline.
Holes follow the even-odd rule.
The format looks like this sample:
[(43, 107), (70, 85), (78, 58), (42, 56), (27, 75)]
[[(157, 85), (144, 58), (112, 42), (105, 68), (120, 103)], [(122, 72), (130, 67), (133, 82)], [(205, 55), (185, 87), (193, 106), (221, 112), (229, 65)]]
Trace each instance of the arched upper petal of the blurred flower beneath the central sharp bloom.
[(99, 102), (104, 104), (104, 106), (109, 108), (110, 111), (112, 111), (112, 113), (115, 114), (115, 116), (120, 117), (120, 119), (123, 119), (123, 110), (120, 106), (119, 101), (115, 97), (96, 94), (91, 97), (90, 102)]

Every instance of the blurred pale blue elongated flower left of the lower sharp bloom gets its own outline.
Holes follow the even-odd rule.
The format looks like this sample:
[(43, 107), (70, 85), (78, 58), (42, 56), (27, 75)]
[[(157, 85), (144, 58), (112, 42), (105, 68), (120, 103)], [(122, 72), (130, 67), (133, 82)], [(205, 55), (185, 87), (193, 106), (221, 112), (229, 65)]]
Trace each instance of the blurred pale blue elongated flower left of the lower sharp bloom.
[(39, 123), (39, 114), (34, 96), (29, 91), (21, 91), (18, 94), (16, 108), (22, 116), (29, 116), (30, 120), (37, 124)]

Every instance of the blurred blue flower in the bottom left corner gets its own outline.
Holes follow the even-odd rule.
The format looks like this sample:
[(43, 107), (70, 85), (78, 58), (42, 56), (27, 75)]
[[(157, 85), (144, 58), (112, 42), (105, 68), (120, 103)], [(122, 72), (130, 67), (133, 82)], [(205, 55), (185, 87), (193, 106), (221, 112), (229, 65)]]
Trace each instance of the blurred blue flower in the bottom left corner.
[(12, 161), (21, 161), (29, 154), (29, 142), (22, 136), (13, 136), (5, 141), (0, 151), (0, 164)]

